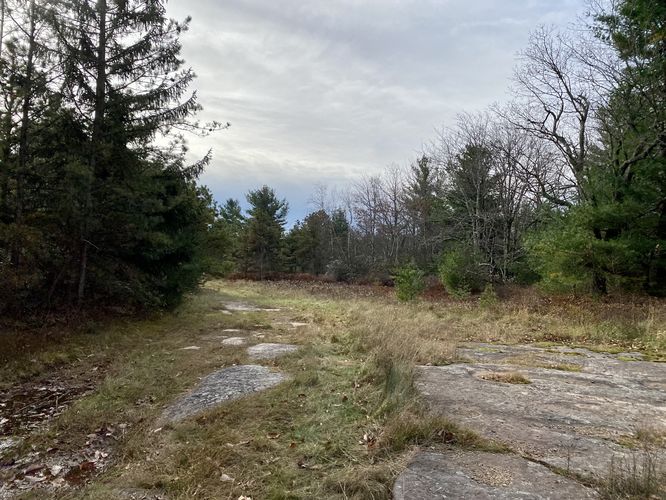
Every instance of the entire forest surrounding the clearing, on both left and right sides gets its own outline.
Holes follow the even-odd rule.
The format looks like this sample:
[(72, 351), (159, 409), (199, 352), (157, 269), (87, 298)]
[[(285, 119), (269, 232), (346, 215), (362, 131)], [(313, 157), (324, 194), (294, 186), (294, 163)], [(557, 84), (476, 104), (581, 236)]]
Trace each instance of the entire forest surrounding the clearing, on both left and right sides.
[(188, 134), (229, 126), (197, 120), (189, 20), (157, 0), (0, 0), (0, 313), (170, 307), (211, 275), (663, 296), (666, 4), (593, 7), (531, 34), (508, 102), (408, 168), (304, 186), (313, 211), (287, 230), (271, 187), (218, 203), (198, 183), (211, 155), (187, 161)]

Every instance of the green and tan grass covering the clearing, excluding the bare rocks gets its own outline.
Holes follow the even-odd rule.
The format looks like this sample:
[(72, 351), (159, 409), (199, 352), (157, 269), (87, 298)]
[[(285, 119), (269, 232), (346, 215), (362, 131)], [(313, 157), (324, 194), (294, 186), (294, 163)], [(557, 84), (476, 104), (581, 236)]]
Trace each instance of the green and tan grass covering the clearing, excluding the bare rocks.
[[(280, 312), (229, 315), (222, 307), (228, 300)], [(293, 328), (292, 321), (307, 326)], [(157, 427), (165, 405), (200, 377), (248, 361), (244, 348), (211, 340), (227, 328), (302, 345), (268, 363), (289, 382)], [(491, 304), (403, 304), (384, 288), (212, 281), (173, 313), (90, 324), (73, 334), (54, 326), (27, 342), (26, 335), (0, 337), (1, 388), (85, 377), (94, 389), (17, 453), (74, 453), (99, 429), (112, 430), (103, 444), (109, 465), (71, 498), (146, 490), (175, 499), (390, 498), (396, 474), (419, 445), (500, 448), (428, 416), (413, 386), (416, 364), (454, 362), (458, 346), (476, 341), (632, 350), (663, 361), (666, 307), (527, 290)], [(200, 349), (182, 350), (192, 345)]]

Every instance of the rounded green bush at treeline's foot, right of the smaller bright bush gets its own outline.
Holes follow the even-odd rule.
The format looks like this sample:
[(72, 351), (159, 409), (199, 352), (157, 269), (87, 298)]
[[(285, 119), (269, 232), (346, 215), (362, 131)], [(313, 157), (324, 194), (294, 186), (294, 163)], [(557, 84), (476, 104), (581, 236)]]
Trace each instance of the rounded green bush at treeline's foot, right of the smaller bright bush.
[(446, 252), (439, 265), (439, 278), (446, 291), (455, 297), (464, 297), (483, 290), (489, 276), (479, 261), (478, 255), (466, 246)]

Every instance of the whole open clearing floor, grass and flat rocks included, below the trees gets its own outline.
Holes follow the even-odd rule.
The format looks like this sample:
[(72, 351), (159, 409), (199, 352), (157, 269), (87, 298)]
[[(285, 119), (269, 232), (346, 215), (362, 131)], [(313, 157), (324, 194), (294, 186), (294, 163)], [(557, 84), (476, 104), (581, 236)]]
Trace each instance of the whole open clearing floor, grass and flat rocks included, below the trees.
[(212, 281), (64, 330), (2, 334), (0, 498), (666, 495), (658, 301)]

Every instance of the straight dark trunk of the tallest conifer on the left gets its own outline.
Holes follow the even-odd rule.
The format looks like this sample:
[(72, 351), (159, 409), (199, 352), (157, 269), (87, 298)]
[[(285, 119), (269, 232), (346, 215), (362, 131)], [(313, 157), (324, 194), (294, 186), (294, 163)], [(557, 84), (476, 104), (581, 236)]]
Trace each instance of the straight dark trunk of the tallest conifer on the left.
[(102, 140), (102, 126), (104, 124), (104, 108), (106, 104), (106, 0), (98, 0), (97, 15), (99, 17), (99, 37), (97, 42), (97, 61), (95, 71), (95, 114), (91, 137), (91, 151), (88, 183), (85, 192), (85, 213), (81, 229), (81, 260), (79, 263), (79, 286), (77, 302), (81, 306), (85, 298), (86, 277), (88, 272), (88, 247), (90, 246), (90, 218), (92, 216), (92, 185), (97, 176), (97, 163)]

